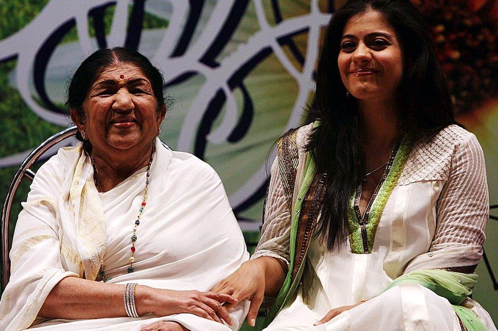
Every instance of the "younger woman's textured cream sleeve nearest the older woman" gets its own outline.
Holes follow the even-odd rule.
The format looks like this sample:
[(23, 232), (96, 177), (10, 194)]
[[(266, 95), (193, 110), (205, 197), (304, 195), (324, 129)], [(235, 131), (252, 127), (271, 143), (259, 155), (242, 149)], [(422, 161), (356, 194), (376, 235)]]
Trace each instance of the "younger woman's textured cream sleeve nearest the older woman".
[(261, 239), (251, 259), (270, 256), (289, 266), (290, 215), (276, 159), (271, 166)]

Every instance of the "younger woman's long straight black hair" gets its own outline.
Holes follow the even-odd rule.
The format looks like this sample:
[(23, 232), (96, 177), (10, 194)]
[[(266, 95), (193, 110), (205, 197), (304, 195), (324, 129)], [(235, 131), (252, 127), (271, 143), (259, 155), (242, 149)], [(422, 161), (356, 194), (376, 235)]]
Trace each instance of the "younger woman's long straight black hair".
[(327, 27), (316, 75), (312, 113), (321, 123), (312, 130), (306, 146), (317, 173), (327, 173), (317, 235), (329, 251), (346, 242), (348, 203), (364, 170), (356, 101), (346, 96), (337, 65), (340, 40), (347, 21), (370, 10), (383, 15), (401, 43), (404, 63), (396, 96), (396, 120), (402, 130), (421, 136), (456, 124), (450, 92), (429, 33), (409, 0), (350, 0), (336, 11)]

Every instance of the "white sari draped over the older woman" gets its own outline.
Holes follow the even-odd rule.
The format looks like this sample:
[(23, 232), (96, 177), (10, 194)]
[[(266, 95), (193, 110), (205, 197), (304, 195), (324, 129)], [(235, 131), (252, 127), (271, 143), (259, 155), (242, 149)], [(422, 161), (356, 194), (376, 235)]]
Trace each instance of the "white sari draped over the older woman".
[(176, 321), (191, 330), (228, 331), (241, 326), (246, 301), (230, 310), (233, 325), (192, 314), (86, 320), (37, 317), (60, 280), (99, 279), (101, 261), (110, 283), (209, 291), (248, 259), (216, 172), (195, 156), (170, 151), (157, 140), (147, 205), (136, 233), (135, 270), (127, 273), (145, 174), (143, 168), (99, 194), (81, 144), (62, 148), (40, 168), (16, 224), (11, 278), (0, 301), (0, 329), (139, 330), (159, 320)]

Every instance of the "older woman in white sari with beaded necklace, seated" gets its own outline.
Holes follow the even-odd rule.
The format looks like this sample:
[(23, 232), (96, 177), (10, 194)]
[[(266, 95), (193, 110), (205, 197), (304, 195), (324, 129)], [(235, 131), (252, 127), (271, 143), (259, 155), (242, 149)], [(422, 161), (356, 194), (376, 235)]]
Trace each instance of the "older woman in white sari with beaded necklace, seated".
[(78, 68), (68, 105), (83, 143), (49, 159), (23, 203), (0, 329), (240, 327), (245, 302), (209, 290), (248, 259), (242, 233), (215, 171), (158, 140), (162, 88), (124, 48)]

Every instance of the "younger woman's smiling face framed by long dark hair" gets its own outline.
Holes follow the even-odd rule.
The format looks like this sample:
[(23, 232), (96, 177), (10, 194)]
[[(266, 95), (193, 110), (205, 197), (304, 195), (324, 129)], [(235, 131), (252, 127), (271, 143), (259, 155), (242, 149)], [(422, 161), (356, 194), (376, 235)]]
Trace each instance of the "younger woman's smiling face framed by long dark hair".
[(344, 27), (337, 59), (342, 82), (360, 100), (394, 98), (403, 75), (402, 49), (382, 14), (368, 11)]

